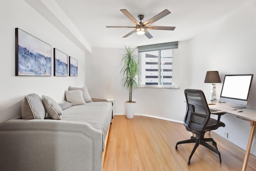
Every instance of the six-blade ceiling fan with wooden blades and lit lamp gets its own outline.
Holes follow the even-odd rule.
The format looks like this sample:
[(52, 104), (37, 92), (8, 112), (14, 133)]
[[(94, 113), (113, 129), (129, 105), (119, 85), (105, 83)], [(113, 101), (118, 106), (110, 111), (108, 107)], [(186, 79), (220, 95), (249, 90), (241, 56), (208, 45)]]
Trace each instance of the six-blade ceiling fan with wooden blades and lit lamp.
[(167, 26), (150, 26), (150, 24), (160, 20), (164, 16), (167, 16), (171, 12), (168, 10), (164, 10), (157, 14), (156, 16), (150, 18), (148, 21), (142, 23), (144, 19), (144, 15), (139, 15), (138, 18), (140, 22), (138, 22), (126, 9), (120, 10), (126, 17), (128, 17), (135, 26), (106, 26), (107, 28), (135, 28), (130, 33), (126, 34), (123, 38), (126, 38), (136, 32), (136, 34), (145, 34), (149, 39), (153, 38), (153, 36), (147, 30), (174, 30), (175, 27), (167, 27)]

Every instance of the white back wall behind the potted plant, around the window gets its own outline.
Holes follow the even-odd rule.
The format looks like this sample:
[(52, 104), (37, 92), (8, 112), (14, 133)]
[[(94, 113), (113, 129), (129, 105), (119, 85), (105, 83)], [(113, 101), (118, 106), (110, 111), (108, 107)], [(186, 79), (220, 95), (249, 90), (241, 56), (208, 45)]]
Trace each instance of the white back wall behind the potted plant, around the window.
[[(187, 87), (188, 42), (179, 42), (178, 62), (180, 89), (139, 88), (134, 90), (135, 113), (183, 121)], [(86, 86), (93, 97), (114, 98), (114, 113), (124, 113), (128, 90), (121, 86), (120, 58), (123, 48), (93, 48), (86, 56)]]

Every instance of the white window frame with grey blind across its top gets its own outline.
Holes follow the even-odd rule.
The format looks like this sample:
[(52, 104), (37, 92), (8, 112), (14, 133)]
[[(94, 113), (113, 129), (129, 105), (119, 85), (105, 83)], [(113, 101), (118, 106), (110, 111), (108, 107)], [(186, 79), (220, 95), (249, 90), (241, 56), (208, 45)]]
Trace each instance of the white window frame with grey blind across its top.
[[(141, 84), (141, 71), (139, 75), (139, 84), (142, 88), (171, 88), (176, 89), (179, 87), (178, 85), (178, 42), (170, 42), (163, 44), (154, 44), (147, 46), (138, 46), (138, 54), (140, 60), (140, 70), (142, 68), (141, 64), (141, 53), (140, 52), (148, 52), (148, 51), (156, 51), (156, 50), (165, 50), (165, 49), (173, 49), (172, 55), (172, 85), (142, 85)], [(158, 57), (160, 60), (160, 57)]]

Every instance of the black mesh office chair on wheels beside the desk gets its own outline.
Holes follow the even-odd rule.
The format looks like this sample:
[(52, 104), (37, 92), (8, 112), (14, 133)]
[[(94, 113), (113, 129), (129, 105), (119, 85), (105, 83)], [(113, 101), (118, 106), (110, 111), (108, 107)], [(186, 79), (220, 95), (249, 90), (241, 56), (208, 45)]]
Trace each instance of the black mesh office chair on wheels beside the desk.
[[(210, 118), (211, 112), (206, 102), (204, 92), (200, 89), (185, 89), (184, 91), (186, 97), (186, 115), (184, 117), (184, 125), (187, 131), (196, 134), (196, 137), (192, 136), (190, 139), (179, 141), (176, 143), (176, 149), (178, 149), (178, 144), (184, 143), (196, 143), (189, 158), (188, 165), (190, 165), (190, 159), (199, 144), (210, 149), (214, 153), (217, 153), (220, 157), (220, 152), (217, 148), (217, 143), (212, 138), (204, 138), (206, 131), (211, 131), (218, 129), (218, 127), (225, 127), (225, 124), (220, 121), (220, 116), (224, 115), (226, 112), (216, 112), (212, 114), (218, 115), (218, 120)], [(209, 145), (208, 141), (212, 141), (212, 145)], [(221, 157), (220, 157), (221, 163)]]

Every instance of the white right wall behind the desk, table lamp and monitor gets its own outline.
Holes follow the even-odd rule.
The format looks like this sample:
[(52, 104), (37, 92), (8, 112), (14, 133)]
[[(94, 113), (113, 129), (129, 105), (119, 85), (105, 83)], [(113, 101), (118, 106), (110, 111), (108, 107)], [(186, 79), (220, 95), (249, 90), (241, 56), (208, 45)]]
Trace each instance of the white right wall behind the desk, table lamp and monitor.
[[(214, 27), (189, 41), (189, 87), (202, 89), (206, 98), (210, 95), (210, 84), (204, 83), (206, 71), (217, 70), (221, 81), (225, 74), (254, 74), (247, 107), (256, 109), (256, 2), (240, 9)], [(222, 84), (216, 84), (217, 98)], [(255, 113), (256, 114), (256, 113)], [(216, 133), (246, 149), (250, 134), (250, 123), (226, 114), (221, 119), (226, 127)], [(256, 155), (255, 138), (251, 153)]]

